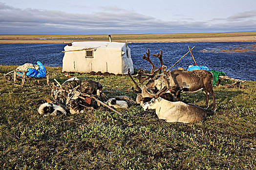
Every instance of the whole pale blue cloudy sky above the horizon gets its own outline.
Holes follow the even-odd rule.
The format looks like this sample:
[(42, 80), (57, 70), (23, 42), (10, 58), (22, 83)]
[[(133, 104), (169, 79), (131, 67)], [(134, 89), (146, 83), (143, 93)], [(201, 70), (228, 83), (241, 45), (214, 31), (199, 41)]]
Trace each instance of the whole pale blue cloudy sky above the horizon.
[(0, 0), (0, 34), (255, 31), (256, 0)]

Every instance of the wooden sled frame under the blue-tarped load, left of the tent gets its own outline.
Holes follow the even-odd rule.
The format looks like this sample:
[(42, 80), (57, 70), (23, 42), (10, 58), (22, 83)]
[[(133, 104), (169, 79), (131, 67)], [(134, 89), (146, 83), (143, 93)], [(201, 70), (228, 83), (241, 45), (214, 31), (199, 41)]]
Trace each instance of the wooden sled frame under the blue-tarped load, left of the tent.
[[(22, 72), (22, 77), (17, 75), (17, 72)], [(46, 72), (45, 77), (27, 77), (25, 70), (13, 70), (6, 74), (3, 74), (5, 80), (13, 85), (19, 85), (17, 84), (17, 80), (21, 79), (21, 86), (24, 85), (25, 80), (37, 80), (39, 83), (39, 80), (46, 80), (47, 85), (49, 85), (49, 73)]]

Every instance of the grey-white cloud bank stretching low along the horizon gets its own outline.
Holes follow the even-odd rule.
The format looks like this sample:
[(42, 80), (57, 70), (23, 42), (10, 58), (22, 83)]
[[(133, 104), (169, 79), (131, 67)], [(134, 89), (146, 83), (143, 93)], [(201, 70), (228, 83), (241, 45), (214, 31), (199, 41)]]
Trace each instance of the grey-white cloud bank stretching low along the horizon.
[[(101, 10), (99, 10), (101, 9)], [(98, 12), (81, 14), (63, 11), (20, 9), (0, 2), (1, 34), (139, 34), (205, 33), (256, 30), (253, 12), (226, 19), (195, 21), (192, 18), (165, 21), (118, 7), (100, 7)], [(228, 20), (251, 18), (246, 21)], [(217, 22), (216, 22), (217, 21)], [(253, 21), (253, 22), (252, 22)]]

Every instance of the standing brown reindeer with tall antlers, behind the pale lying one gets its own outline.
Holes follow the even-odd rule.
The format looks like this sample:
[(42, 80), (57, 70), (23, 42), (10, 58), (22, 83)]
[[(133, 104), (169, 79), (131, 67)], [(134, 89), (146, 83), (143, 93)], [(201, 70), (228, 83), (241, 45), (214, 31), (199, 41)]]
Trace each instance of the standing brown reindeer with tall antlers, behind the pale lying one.
[[(169, 93), (173, 95), (169, 95), (168, 93), (163, 94), (169, 101), (180, 101), (180, 93), (189, 92), (194, 93), (199, 90), (202, 90), (206, 95), (206, 109), (209, 107), (209, 94), (213, 97), (213, 111), (216, 110), (215, 104), (215, 94), (213, 92), (213, 74), (207, 70), (191, 70), (191, 71), (182, 71), (178, 69), (174, 70), (166, 70), (166, 66), (163, 66), (162, 60), (162, 50), (158, 54), (152, 54), (153, 56), (157, 57), (160, 60), (161, 66), (156, 69), (157, 67), (154, 66), (153, 62), (150, 60), (149, 56), (149, 49), (146, 52), (147, 56), (143, 54), (143, 59), (148, 61), (152, 69), (150, 73), (145, 73), (141, 68), (138, 71), (138, 79), (140, 83), (149, 79), (149, 82), (146, 84), (147, 87), (153, 88), (155, 87), (157, 90), (162, 88), (163, 82), (163, 75), (165, 74), (167, 78), (170, 78), (170, 89)], [(155, 70), (156, 69), (156, 70)], [(161, 69), (163, 70), (164, 74), (161, 74)], [(157, 72), (159, 71), (159, 74)], [(138, 87), (137, 87), (138, 88)], [(175, 99), (173, 99), (175, 98)], [(137, 96), (137, 102), (142, 102), (142, 97), (140, 94)]]

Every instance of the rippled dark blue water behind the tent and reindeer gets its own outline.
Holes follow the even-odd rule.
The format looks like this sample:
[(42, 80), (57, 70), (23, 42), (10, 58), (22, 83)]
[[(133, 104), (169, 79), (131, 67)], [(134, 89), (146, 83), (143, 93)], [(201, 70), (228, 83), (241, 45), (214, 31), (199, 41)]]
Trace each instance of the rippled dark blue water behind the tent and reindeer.
[[(65, 45), (1, 44), (0, 65), (36, 64), (41, 61), (44, 66), (62, 67)], [(131, 43), (128, 46), (134, 68), (151, 69), (151, 65), (142, 59), (147, 49), (157, 67), (160, 62), (152, 54), (162, 50), (164, 65), (170, 68), (188, 52), (188, 46), (195, 46), (192, 53), (198, 66), (223, 71), (232, 78), (256, 81), (256, 42)], [(190, 53), (171, 69), (188, 68), (189, 65), (193, 65)]]

